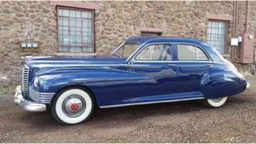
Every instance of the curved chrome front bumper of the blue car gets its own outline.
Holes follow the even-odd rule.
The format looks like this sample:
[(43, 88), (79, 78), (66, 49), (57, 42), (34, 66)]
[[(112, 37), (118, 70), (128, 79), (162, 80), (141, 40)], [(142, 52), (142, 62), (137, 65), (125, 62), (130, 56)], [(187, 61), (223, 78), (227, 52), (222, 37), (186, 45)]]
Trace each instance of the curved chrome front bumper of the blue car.
[(20, 105), (24, 110), (29, 112), (44, 112), (46, 111), (46, 105), (38, 102), (32, 102), (26, 100), (22, 95), (21, 86), (17, 86), (16, 94), (14, 97), (14, 103)]

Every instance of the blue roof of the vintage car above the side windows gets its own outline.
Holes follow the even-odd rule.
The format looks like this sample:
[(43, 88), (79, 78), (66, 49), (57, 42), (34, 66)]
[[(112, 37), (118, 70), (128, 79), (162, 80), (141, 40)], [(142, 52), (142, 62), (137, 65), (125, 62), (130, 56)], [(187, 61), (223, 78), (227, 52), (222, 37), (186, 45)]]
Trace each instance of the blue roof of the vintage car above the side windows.
[(180, 42), (180, 43), (194, 43), (194, 44), (202, 44), (204, 42), (195, 39), (195, 38), (187, 38), (187, 37), (169, 37), (169, 36), (133, 36), (127, 38), (127, 41), (144, 44), (144, 43), (157, 43), (157, 42)]

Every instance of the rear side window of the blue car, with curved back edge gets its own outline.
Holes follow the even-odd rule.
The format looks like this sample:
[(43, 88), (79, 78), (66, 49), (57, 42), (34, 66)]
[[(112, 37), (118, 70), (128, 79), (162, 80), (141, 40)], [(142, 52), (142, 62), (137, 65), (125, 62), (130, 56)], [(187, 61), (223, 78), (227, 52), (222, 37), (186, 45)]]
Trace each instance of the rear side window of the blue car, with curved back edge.
[(209, 60), (206, 54), (198, 47), (192, 45), (177, 45), (179, 60)]

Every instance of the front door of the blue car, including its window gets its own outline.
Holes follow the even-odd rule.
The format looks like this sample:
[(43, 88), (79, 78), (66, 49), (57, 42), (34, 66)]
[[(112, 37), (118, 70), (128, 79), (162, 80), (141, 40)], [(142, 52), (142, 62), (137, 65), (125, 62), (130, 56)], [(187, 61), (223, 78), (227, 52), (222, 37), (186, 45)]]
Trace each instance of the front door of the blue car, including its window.
[(145, 46), (129, 65), (131, 72), (130, 102), (170, 99), (176, 93), (177, 64), (169, 43)]

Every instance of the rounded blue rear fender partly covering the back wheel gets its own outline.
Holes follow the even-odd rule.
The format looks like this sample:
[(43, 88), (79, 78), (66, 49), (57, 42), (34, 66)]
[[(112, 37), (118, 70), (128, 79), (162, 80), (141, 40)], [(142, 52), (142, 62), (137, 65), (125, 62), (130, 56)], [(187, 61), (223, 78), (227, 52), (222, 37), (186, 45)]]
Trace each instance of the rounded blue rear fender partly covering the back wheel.
[(216, 98), (243, 92), (246, 80), (235, 68), (216, 66), (203, 75), (200, 85), (205, 98)]

